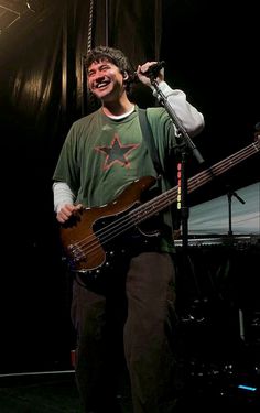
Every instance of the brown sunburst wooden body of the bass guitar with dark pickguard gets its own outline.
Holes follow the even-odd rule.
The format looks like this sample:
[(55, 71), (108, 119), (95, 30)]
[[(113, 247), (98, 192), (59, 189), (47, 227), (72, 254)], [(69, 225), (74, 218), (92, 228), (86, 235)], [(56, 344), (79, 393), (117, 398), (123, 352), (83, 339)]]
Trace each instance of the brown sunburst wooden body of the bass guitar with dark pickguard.
[[(120, 246), (121, 233), (134, 226), (128, 213), (141, 204), (141, 197), (155, 178), (144, 176), (132, 182), (117, 199), (94, 208), (82, 208), (72, 219), (61, 227), (61, 240), (69, 267), (76, 272), (99, 271), (101, 265), (109, 264), (108, 254), (115, 251), (112, 240)], [(121, 243), (123, 248), (123, 242)], [(106, 250), (105, 250), (106, 248)]]

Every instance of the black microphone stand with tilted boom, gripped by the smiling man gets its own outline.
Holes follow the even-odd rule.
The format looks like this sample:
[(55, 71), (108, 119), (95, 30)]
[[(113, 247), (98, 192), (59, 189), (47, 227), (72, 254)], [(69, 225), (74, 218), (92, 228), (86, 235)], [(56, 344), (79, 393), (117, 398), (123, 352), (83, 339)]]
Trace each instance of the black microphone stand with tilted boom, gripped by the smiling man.
[(192, 152), (192, 154), (196, 157), (197, 162), (202, 164), (204, 159), (202, 157), (199, 151), (195, 146), (194, 142), (192, 141), (191, 137), (188, 135), (187, 131), (183, 127), (182, 122), (177, 118), (176, 113), (174, 112), (173, 108), (167, 101), (165, 95), (160, 90), (159, 84), (155, 79), (155, 74), (151, 74), (150, 80), (154, 89), (156, 90), (156, 98), (159, 102), (165, 108), (170, 118), (172, 119), (173, 123), (175, 124), (178, 131), (178, 138), (182, 139), (184, 144), (181, 144), (182, 151), (182, 161), (181, 161), (181, 220), (182, 220), (182, 238), (183, 238), (183, 249), (187, 248), (188, 243), (188, 207), (187, 207), (187, 176), (186, 176), (186, 159), (187, 153)]

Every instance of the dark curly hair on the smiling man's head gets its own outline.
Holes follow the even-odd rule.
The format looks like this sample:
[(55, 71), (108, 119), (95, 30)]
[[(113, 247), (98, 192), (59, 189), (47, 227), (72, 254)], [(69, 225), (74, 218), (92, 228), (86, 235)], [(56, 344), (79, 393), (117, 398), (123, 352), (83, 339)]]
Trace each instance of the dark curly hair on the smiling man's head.
[(129, 78), (124, 81), (124, 84), (126, 90), (130, 91), (131, 84), (134, 81), (134, 74), (127, 56), (119, 48), (97, 46), (90, 50), (90, 52), (88, 52), (85, 56), (85, 68), (88, 69), (94, 62), (101, 62), (104, 59), (107, 59), (116, 65), (121, 74), (128, 74)]

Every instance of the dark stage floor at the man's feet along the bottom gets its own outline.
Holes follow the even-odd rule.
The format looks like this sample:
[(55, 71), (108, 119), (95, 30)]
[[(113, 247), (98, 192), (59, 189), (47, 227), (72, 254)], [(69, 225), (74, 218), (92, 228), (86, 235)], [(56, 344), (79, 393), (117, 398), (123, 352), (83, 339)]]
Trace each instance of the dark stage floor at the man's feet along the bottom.
[[(231, 369), (219, 371), (216, 366), (199, 365), (195, 361), (191, 366), (189, 379), (174, 413), (195, 410), (205, 413), (219, 412), (220, 409), (227, 407), (234, 411), (239, 407), (239, 411), (242, 409), (247, 413), (259, 412), (260, 388), (253, 390), (256, 374), (254, 378), (249, 377), (246, 371), (241, 372), (240, 378), (232, 377), (232, 374)], [(239, 384), (247, 384), (248, 389), (239, 388)], [(121, 412), (132, 413), (126, 387), (118, 398)], [(83, 413), (74, 381), (74, 371), (1, 374), (0, 412)]]

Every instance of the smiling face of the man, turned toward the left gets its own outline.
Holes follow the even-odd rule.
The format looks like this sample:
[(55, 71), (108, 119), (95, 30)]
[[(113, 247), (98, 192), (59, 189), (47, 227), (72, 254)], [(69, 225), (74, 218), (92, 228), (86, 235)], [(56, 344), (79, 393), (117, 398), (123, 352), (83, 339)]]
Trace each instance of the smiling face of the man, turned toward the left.
[(91, 93), (102, 101), (115, 100), (124, 91), (126, 77), (107, 59), (91, 63), (87, 70), (87, 79)]

